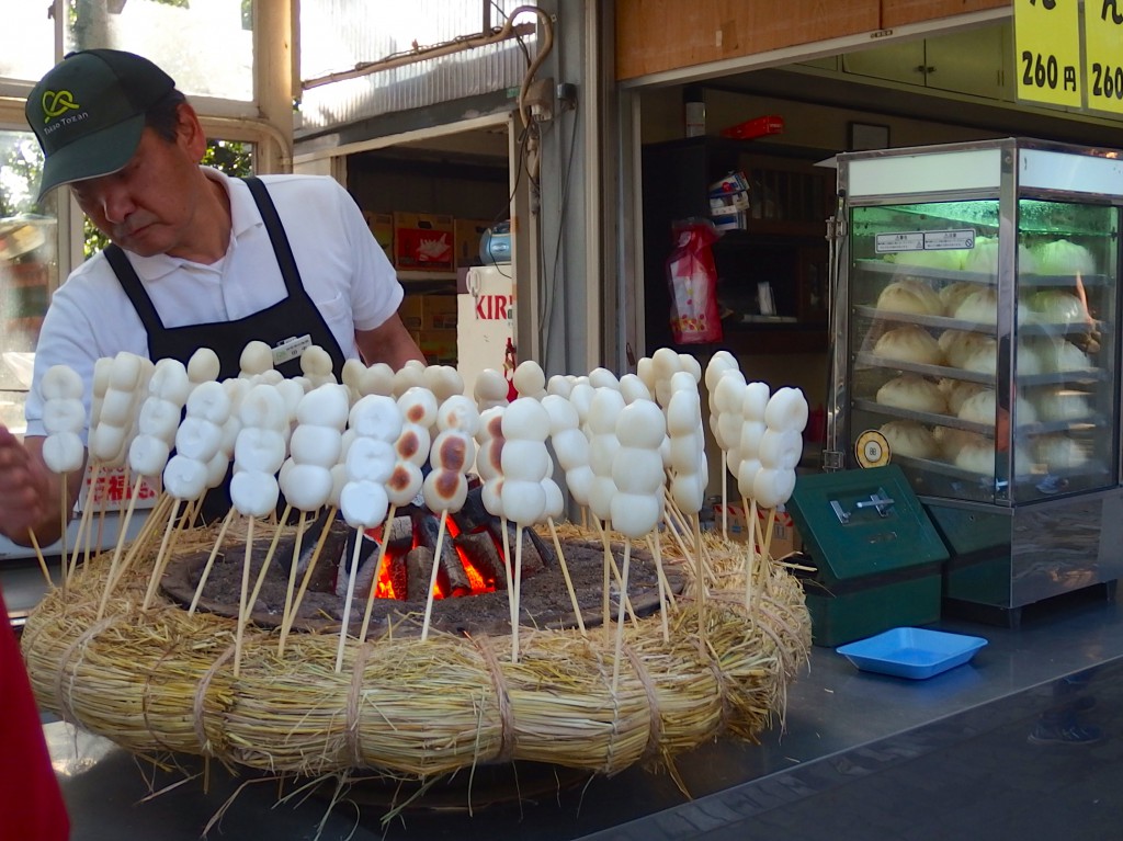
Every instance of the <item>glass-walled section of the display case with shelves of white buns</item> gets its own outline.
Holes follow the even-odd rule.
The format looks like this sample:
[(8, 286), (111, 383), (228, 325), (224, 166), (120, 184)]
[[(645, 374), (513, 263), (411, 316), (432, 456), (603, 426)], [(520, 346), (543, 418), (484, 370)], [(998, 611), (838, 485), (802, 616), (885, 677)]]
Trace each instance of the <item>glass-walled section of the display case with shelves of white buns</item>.
[(924, 495), (1111, 486), (1119, 211), (1022, 200), (1004, 220), (999, 205), (851, 208), (849, 438)]

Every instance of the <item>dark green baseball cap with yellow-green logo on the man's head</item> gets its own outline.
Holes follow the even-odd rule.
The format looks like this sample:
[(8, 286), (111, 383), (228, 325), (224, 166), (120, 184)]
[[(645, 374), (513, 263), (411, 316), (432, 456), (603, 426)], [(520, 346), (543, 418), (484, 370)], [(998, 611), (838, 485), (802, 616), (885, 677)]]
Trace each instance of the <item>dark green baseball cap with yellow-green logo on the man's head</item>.
[(52, 67), (26, 107), (46, 157), (39, 196), (124, 167), (140, 143), (145, 112), (174, 88), (147, 58), (119, 49), (71, 53)]

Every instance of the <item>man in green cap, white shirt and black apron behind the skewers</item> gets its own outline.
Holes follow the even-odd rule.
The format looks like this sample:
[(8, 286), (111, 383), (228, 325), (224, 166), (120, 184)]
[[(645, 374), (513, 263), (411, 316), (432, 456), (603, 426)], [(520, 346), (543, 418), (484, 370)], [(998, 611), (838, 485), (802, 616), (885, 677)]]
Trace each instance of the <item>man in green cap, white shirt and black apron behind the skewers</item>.
[[(27, 545), (56, 539), (82, 470), (61, 500), (46, 469), (43, 375), (93, 367), (128, 351), (186, 363), (218, 355), (237, 376), (243, 348), (273, 348), (285, 376), (312, 346), (331, 357), (399, 368), (423, 356), (398, 317), (402, 287), (363, 216), (334, 180), (304, 175), (230, 179), (200, 165), (207, 138), (171, 76), (113, 49), (72, 53), (27, 100), (43, 146), (40, 194), (69, 184), (112, 243), (79, 266), (52, 299), (36, 347), (20, 442), (0, 427), (0, 533)], [(86, 430), (88, 432), (88, 430)]]

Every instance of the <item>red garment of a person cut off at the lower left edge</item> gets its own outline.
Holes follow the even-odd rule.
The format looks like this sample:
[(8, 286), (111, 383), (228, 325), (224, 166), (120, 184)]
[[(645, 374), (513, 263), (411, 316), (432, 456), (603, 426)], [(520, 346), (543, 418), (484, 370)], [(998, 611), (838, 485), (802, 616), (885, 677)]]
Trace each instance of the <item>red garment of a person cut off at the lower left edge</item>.
[(65, 841), (70, 817), (0, 593), (0, 839)]

